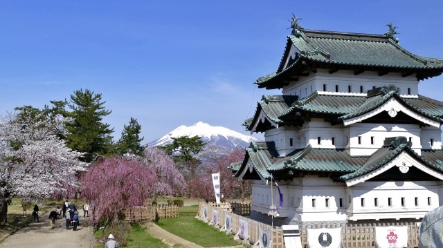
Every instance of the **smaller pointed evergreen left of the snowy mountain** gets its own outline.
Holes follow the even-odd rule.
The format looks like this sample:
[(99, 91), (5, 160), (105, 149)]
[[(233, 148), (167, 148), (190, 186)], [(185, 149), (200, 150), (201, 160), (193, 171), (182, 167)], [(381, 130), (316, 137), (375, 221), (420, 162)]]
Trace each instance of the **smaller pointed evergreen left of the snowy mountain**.
[(135, 155), (143, 154), (143, 147), (141, 142), (143, 137), (140, 137), (141, 125), (138, 124), (137, 119), (131, 117), (128, 126), (123, 126), (122, 136), (117, 142), (117, 152), (123, 155), (127, 152)]

